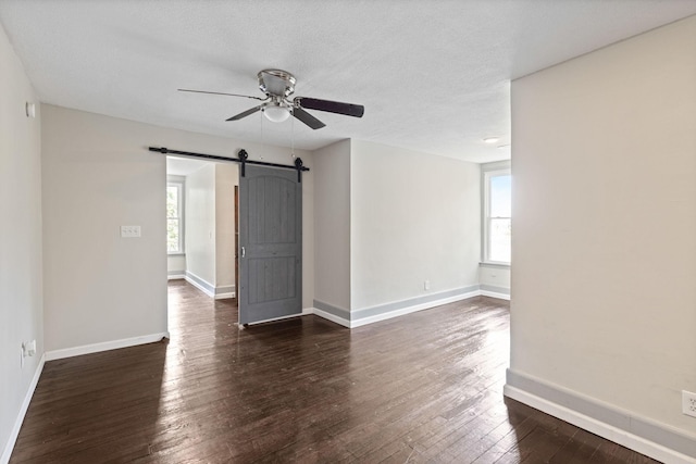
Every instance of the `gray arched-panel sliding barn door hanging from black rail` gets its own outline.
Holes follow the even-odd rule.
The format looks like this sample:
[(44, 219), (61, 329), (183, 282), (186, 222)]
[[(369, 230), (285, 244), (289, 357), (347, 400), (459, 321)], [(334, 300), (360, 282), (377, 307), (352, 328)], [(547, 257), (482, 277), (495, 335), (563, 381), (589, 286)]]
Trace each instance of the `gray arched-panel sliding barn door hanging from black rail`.
[(302, 312), (302, 185), (297, 172), (246, 166), (239, 178), (239, 324)]

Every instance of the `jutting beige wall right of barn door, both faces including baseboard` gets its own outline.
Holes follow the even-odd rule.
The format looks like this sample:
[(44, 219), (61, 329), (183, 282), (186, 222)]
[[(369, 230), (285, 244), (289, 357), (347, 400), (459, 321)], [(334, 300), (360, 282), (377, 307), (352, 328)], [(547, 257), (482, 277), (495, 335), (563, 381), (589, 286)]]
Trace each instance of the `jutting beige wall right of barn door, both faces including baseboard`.
[(314, 163), (322, 315), (355, 327), (478, 291), (477, 164), (360, 140)]

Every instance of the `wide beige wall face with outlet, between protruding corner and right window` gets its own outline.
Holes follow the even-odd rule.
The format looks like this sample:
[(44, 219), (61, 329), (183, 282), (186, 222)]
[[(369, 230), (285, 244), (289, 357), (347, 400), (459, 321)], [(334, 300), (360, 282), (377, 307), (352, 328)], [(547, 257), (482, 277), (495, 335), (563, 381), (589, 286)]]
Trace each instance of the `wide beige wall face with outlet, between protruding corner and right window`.
[(478, 285), (477, 164), (352, 140), (350, 196), (351, 311)]

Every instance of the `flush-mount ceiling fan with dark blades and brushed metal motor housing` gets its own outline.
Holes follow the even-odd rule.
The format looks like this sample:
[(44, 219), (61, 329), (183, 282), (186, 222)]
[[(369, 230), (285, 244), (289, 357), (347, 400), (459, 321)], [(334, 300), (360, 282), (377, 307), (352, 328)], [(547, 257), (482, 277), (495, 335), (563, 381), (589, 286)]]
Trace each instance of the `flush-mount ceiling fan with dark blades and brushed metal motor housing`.
[(365, 111), (361, 104), (343, 103), (339, 101), (320, 100), (309, 97), (295, 97), (290, 100), (289, 97), (295, 92), (295, 83), (297, 80), (295, 76), (287, 71), (263, 70), (257, 74), (257, 77), (259, 78), (259, 88), (265, 93), (265, 98), (206, 90), (178, 89), (178, 91), (245, 97), (262, 101), (260, 105), (234, 115), (226, 121), (238, 121), (257, 111), (261, 111), (269, 121), (274, 123), (281, 123), (293, 115), (312, 129), (321, 129), (325, 124), (304, 110), (326, 111), (353, 117), (362, 117)]

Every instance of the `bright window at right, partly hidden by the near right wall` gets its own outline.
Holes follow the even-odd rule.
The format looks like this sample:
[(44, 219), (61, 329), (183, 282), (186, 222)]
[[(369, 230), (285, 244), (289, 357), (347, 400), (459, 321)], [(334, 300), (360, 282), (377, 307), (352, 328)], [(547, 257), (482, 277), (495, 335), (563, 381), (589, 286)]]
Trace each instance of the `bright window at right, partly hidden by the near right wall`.
[(512, 249), (512, 176), (509, 164), (483, 167), (483, 261), (510, 264)]

